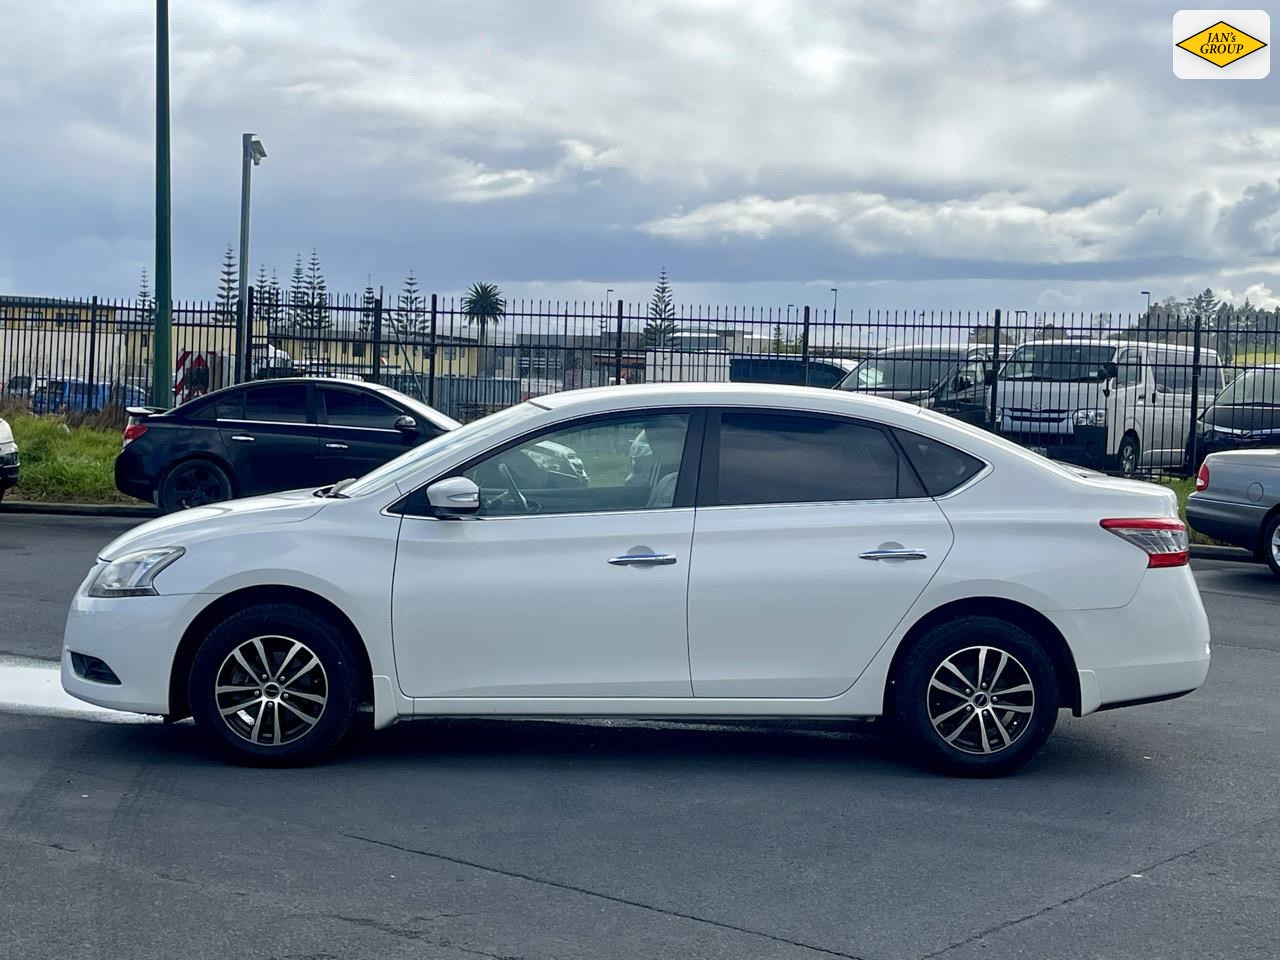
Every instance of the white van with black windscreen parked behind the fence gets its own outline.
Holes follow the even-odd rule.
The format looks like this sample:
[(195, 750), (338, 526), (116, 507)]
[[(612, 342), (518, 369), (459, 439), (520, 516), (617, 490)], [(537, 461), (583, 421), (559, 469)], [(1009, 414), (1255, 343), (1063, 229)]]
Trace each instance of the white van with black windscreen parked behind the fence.
[[(1032, 340), (1000, 371), (1000, 431), (1053, 460), (1119, 470), (1181, 466), (1192, 425), (1193, 348), (1134, 340)], [(1196, 416), (1222, 388), (1201, 349)]]

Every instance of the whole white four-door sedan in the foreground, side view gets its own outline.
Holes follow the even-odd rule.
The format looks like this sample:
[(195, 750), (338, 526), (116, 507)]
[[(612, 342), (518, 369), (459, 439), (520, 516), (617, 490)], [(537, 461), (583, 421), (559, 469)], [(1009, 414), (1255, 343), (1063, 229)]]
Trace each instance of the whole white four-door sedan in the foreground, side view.
[(1208, 662), (1169, 490), (893, 401), (655, 384), (143, 524), (77, 591), (61, 676), (259, 763), (324, 754), (360, 709), (891, 714), (919, 759), (996, 774), (1060, 708), (1179, 696)]

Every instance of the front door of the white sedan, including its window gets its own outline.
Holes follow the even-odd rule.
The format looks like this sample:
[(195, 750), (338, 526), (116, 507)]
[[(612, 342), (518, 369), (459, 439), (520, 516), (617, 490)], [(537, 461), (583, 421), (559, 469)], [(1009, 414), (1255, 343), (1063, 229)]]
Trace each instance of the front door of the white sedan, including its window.
[[(646, 411), (527, 434), (453, 471), (480, 511), (407, 500), (392, 623), (419, 698), (685, 698), (700, 415)], [(660, 468), (627, 483), (641, 433)], [(576, 483), (561, 451), (581, 461)]]

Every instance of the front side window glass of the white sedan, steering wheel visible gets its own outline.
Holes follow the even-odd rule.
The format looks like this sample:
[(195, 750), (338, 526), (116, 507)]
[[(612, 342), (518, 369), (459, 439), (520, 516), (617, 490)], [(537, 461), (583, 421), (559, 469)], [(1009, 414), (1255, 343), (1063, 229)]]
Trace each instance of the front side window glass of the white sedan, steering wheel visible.
[(463, 472), (481, 517), (663, 509), (689, 431), (687, 413), (593, 420), (518, 443)]

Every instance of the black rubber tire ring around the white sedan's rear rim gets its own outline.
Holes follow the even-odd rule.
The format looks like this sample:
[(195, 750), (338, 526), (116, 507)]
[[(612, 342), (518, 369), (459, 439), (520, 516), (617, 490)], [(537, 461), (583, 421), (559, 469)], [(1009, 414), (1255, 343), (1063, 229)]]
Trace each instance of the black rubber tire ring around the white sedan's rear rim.
[[(943, 659), (966, 646), (1006, 650), (1027, 668), (1036, 687), (1028, 730), (1012, 746), (989, 755), (966, 754), (947, 744), (929, 721), (928, 689)], [(893, 677), (893, 712), (913, 759), (957, 777), (1002, 777), (1034, 756), (1057, 722), (1057, 675), (1044, 648), (1021, 627), (997, 617), (968, 616), (938, 623), (922, 636)]]

